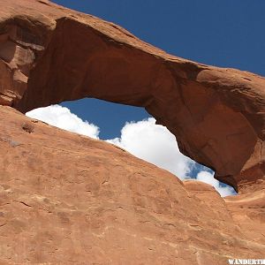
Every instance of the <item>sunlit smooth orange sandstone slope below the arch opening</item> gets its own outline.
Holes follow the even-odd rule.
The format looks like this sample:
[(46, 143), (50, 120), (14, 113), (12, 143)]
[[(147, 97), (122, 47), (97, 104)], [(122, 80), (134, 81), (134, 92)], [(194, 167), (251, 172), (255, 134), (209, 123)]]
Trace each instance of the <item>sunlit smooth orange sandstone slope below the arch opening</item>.
[(1, 264), (221, 265), (263, 257), (264, 197), (224, 201), (207, 184), (183, 184), (103, 141), (9, 107), (0, 107), (0, 118)]

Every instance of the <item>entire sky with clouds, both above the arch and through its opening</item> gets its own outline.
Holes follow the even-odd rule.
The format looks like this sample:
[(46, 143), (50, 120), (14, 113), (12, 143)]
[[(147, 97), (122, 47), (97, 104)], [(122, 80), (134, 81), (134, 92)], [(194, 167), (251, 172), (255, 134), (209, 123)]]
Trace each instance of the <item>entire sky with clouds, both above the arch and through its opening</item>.
[[(178, 57), (265, 76), (265, 1), (53, 2), (114, 22), (143, 41)], [(223, 196), (232, 193), (230, 187), (213, 178), (214, 172), (180, 154), (174, 136), (163, 126), (155, 125), (155, 119), (140, 108), (82, 99), (33, 110), (28, 115), (75, 133), (110, 140), (133, 155), (170, 170), (179, 178), (207, 182)], [(148, 119), (142, 121), (144, 118)], [(130, 121), (134, 123), (125, 125)]]

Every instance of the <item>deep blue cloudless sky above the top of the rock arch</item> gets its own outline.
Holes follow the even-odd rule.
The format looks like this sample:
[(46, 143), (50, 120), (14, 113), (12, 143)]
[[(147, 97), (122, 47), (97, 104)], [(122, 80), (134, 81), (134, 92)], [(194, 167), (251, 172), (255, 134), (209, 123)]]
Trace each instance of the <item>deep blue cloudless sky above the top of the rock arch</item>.
[(178, 57), (265, 75), (265, 1), (54, 2), (114, 22)]

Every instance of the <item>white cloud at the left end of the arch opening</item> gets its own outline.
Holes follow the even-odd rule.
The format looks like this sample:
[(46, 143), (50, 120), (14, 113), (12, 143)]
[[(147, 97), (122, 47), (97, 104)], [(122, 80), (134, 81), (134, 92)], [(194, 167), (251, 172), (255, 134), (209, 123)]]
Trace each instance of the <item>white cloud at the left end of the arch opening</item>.
[(51, 105), (46, 108), (31, 110), (26, 113), (27, 117), (33, 117), (58, 128), (79, 133), (98, 139), (99, 127), (83, 121), (67, 108), (59, 105)]

